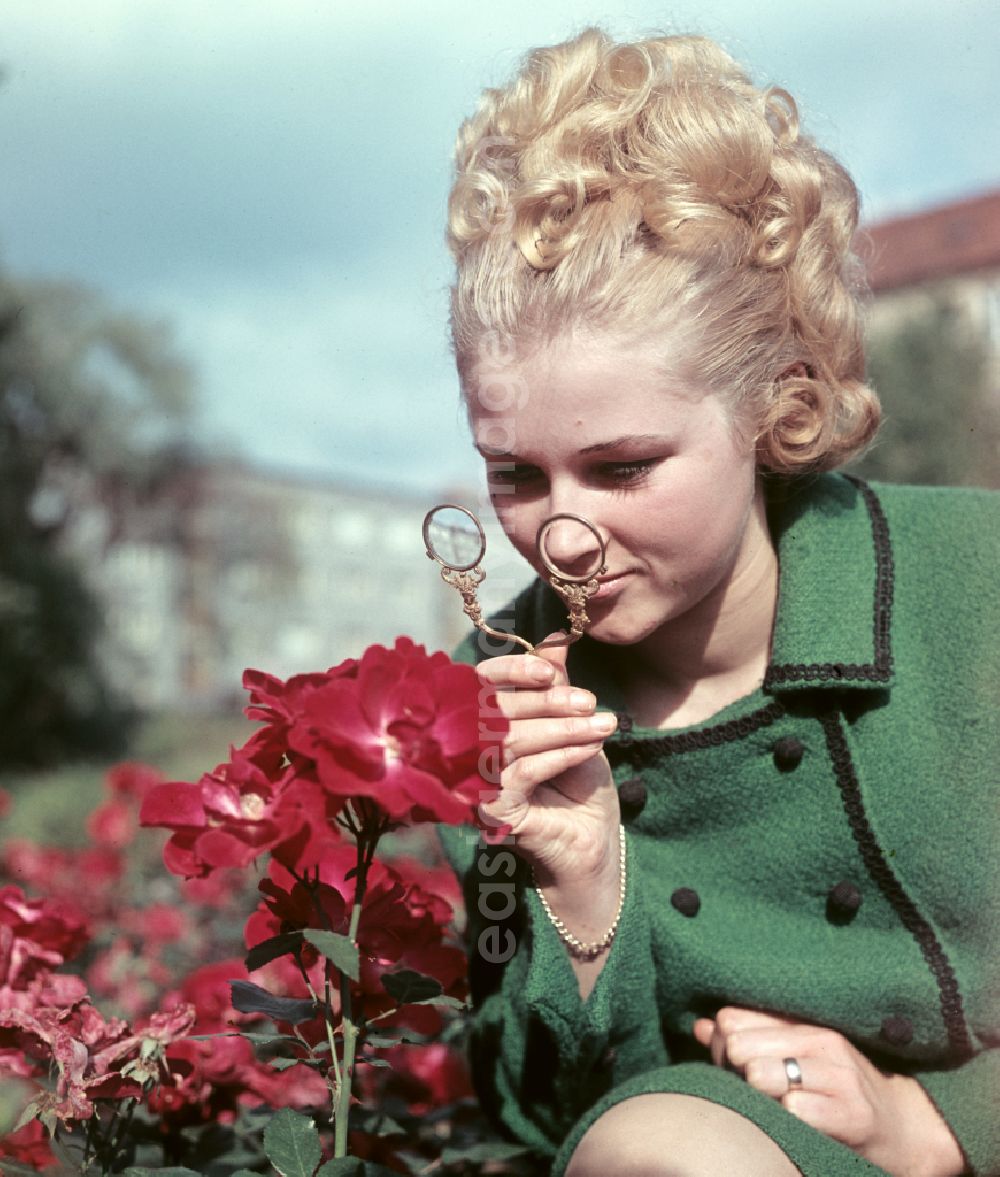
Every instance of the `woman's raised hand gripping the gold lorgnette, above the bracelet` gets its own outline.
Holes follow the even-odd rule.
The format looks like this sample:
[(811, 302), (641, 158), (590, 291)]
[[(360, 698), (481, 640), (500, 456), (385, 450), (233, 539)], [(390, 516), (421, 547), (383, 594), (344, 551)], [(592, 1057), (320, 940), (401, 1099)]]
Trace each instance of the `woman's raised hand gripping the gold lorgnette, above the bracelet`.
[(593, 883), (618, 870), (618, 793), (604, 756), (615, 729), (589, 691), (571, 686), (565, 644), (478, 667), (511, 727), (500, 793), (484, 812), (511, 826), (542, 885)]

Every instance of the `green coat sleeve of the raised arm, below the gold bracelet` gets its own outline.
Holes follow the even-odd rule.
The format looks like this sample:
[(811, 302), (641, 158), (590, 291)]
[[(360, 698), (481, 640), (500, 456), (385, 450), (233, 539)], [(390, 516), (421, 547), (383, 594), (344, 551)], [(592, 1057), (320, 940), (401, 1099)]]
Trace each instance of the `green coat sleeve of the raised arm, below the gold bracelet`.
[(464, 876), (479, 1098), (513, 1139), (554, 1156), (576, 1119), (620, 1079), (665, 1064), (649, 927), (626, 893), (605, 966), (580, 999), (566, 947), (509, 846), (442, 830)]

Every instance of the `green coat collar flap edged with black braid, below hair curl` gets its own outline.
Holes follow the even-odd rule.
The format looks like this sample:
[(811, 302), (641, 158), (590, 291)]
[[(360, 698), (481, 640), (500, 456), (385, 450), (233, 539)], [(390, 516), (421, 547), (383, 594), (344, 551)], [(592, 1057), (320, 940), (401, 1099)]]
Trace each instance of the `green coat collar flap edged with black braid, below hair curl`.
[(769, 523), (780, 579), (765, 691), (892, 685), (892, 546), (872, 487), (816, 478), (774, 503)]

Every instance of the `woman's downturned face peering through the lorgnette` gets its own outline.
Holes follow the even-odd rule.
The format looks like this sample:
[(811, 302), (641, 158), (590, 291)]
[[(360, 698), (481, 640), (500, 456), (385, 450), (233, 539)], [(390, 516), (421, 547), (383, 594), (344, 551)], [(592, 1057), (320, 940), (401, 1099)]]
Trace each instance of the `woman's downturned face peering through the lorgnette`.
[[(625, 645), (680, 618), (711, 621), (766, 543), (753, 443), (722, 400), (665, 375), (651, 346), (608, 335), (498, 348), (473, 377), (473, 434), (514, 547), (541, 570), (535, 533), (559, 512), (587, 517), (607, 543), (591, 636)], [(547, 550), (582, 572), (595, 545), (558, 524)]]

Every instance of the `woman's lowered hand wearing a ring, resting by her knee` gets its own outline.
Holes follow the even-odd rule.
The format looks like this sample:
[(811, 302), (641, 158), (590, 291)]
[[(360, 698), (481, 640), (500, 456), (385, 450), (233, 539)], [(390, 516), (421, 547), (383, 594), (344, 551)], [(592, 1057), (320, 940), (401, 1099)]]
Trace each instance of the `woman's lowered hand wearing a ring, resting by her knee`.
[[(694, 1037), (793, 1116), (840, 1141), (893, 1177), (959, 1177), (961, 1149), (920, 1084), (874, 1066), (825, 1026), (734, 1006), (699, 1018)], [(785, 1059), (801, 1070), (792, 1086)]]

